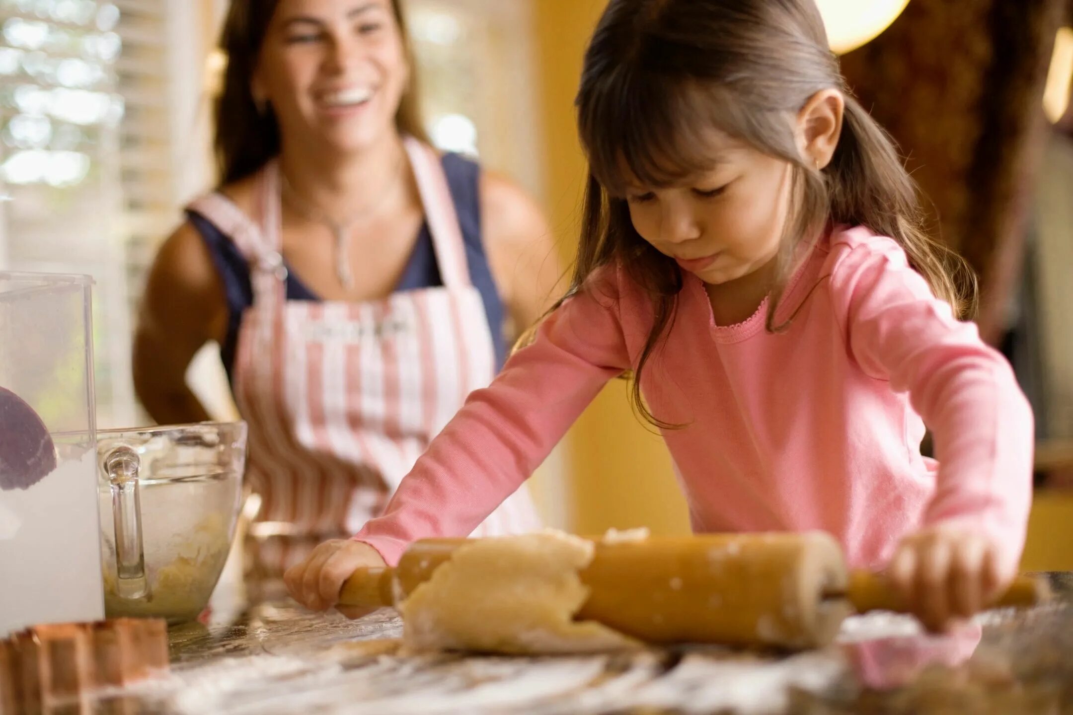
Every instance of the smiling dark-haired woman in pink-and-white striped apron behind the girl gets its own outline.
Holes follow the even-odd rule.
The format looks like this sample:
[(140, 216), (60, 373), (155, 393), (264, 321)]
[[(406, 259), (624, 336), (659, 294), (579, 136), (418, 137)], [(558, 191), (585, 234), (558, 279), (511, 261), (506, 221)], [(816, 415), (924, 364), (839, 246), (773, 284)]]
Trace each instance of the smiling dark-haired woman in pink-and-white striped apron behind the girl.
[[(558, 271), (528, 196), (425, 143), (398, 2), (235, 0), (221, 49), (220, 187), (156, 259), (135, 384), (159, 421), (204, 419), (185, 373), (220, 343), (249, 553), (278, 576), (379, 513)], [(523, 491), (479, 531), (535, 525)]]

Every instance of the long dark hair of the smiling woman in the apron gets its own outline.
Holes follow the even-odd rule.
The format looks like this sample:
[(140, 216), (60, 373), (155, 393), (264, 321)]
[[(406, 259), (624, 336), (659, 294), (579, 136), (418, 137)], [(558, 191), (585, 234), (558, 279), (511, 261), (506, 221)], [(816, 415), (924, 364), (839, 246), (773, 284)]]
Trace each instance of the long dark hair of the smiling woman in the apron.
[[(223, 91), (216, 103), (217, 174), (221, 184), (237, 181), (264, 166), (280, 150), (279, 124), (270, 107), (253, 101), (253, 72), (268, 25), (279, 0), (232, 0), (223, 25), (220, 49), (227, 57)], [(399, 0), (392, 0), (395, 20), (410, 60), (410, 84), (395, 115), (399, 131), (425, 139), (417, 113), (413, 54)]]

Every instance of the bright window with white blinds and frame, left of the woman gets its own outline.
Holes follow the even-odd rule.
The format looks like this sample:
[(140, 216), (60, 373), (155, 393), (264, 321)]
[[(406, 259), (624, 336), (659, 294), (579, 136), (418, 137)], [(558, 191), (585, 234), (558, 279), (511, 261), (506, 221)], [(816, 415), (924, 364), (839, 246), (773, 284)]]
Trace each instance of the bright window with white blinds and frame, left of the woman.
[[(0, 267), (93, 277), (98, 423), (144, 423), (133, 307), (208, 183), (216, 0), (0, 0)], [(191, 147), (204, 147), (204, 151)]]

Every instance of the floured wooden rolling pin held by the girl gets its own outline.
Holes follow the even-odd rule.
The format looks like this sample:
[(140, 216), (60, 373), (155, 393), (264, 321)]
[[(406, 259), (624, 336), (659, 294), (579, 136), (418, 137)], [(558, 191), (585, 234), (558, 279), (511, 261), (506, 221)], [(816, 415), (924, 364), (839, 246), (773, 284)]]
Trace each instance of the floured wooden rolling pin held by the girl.
[[(813, 647), (853, 612), (906, 612), (882, 577), (848, 571), (827, 534), (707, 534), (608, 542), (592, 539), (580, 571), (589, 597), (577, 620), (652, 643)], [(358, 569), (342, 606), (394, 606), (431, 578), (466, 539), (412, 545), (396, 568)], [(1018, 578), (993, 606), (1033, 606), (1046, 584)]]

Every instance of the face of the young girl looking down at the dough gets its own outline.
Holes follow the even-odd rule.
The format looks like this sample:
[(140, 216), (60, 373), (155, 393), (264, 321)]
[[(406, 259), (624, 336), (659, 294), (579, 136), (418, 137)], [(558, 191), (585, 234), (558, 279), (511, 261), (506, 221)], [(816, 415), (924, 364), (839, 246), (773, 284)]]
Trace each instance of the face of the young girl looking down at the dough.
[(670, 188), (631, 182), (634, 228), (705, 283), (720, 285), (774, 265), (788, 215), (791, 164), (725, 134), (707, 172)]

